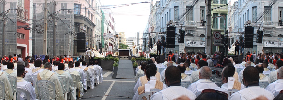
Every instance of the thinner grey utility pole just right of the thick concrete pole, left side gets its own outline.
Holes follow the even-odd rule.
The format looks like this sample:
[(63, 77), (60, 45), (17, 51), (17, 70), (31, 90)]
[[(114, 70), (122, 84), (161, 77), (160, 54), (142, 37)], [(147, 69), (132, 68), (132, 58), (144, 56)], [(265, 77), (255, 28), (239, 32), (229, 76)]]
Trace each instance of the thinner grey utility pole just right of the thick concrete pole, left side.
[(54, 25), (53, 25), (53, 56), (56, 56), (56, 1), (53, 1), (53, 21), (54, 21)]

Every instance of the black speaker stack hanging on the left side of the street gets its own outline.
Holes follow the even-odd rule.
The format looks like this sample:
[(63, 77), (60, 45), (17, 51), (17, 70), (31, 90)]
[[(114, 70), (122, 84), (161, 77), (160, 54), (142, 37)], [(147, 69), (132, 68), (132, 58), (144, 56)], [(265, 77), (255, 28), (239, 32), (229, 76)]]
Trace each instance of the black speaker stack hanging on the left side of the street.
[(85, 32), (77, 33), (77, 52), (85, 52)]

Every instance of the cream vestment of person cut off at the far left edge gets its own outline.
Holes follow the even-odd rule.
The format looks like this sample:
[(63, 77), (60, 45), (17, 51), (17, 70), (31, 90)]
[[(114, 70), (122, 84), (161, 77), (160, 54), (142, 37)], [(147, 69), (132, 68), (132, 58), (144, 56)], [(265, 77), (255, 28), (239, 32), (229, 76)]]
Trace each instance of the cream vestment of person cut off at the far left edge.
[(2, 81), (5, 84), (5, 87), (2, 87), (0, 85), (0, 89), (4, 89), (5, 91), (5, 99), (6, 100), (14, 99), (12, 87), (8, 79), (8, 76), (2, 71), (0, 71), (0, 81)]

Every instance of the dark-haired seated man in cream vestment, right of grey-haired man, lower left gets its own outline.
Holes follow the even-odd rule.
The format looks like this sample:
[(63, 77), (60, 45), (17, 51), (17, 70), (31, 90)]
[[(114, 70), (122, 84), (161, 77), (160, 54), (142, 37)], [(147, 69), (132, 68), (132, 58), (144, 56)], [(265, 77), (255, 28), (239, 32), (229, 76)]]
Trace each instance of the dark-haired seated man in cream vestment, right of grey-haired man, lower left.
[[(65, 65), (63, 63), (58, 64), (58, 70), (54, 72), (54, 74), (56, 74), (57, 76), (62, 76), (67, 78), (69, 81), (69, 89), (70, 89), (70, 94), (71, 94), (71, 100), (76, 100), (77, 96), (76, 96), (76, 90), (74, 89), (74, 81), (70, 75), (69, 72), (65, 72)], [(61, 83), (63, 84), (63, 83)]]

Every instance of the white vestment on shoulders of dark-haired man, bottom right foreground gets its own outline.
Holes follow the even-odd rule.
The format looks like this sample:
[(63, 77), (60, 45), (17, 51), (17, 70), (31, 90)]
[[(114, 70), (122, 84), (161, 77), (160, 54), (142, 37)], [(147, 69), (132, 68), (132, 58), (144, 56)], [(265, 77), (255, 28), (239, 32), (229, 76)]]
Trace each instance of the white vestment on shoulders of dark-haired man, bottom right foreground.
[(249, 86), (245, 89), (242, 89), (234, 94), (232, 94), (228, 99), (229, 100), (252, 100), (259, 96), (264, 96), (268, 100), (274, 99), (274, 95), (267, 91), (264, 88), (259, 86)]

